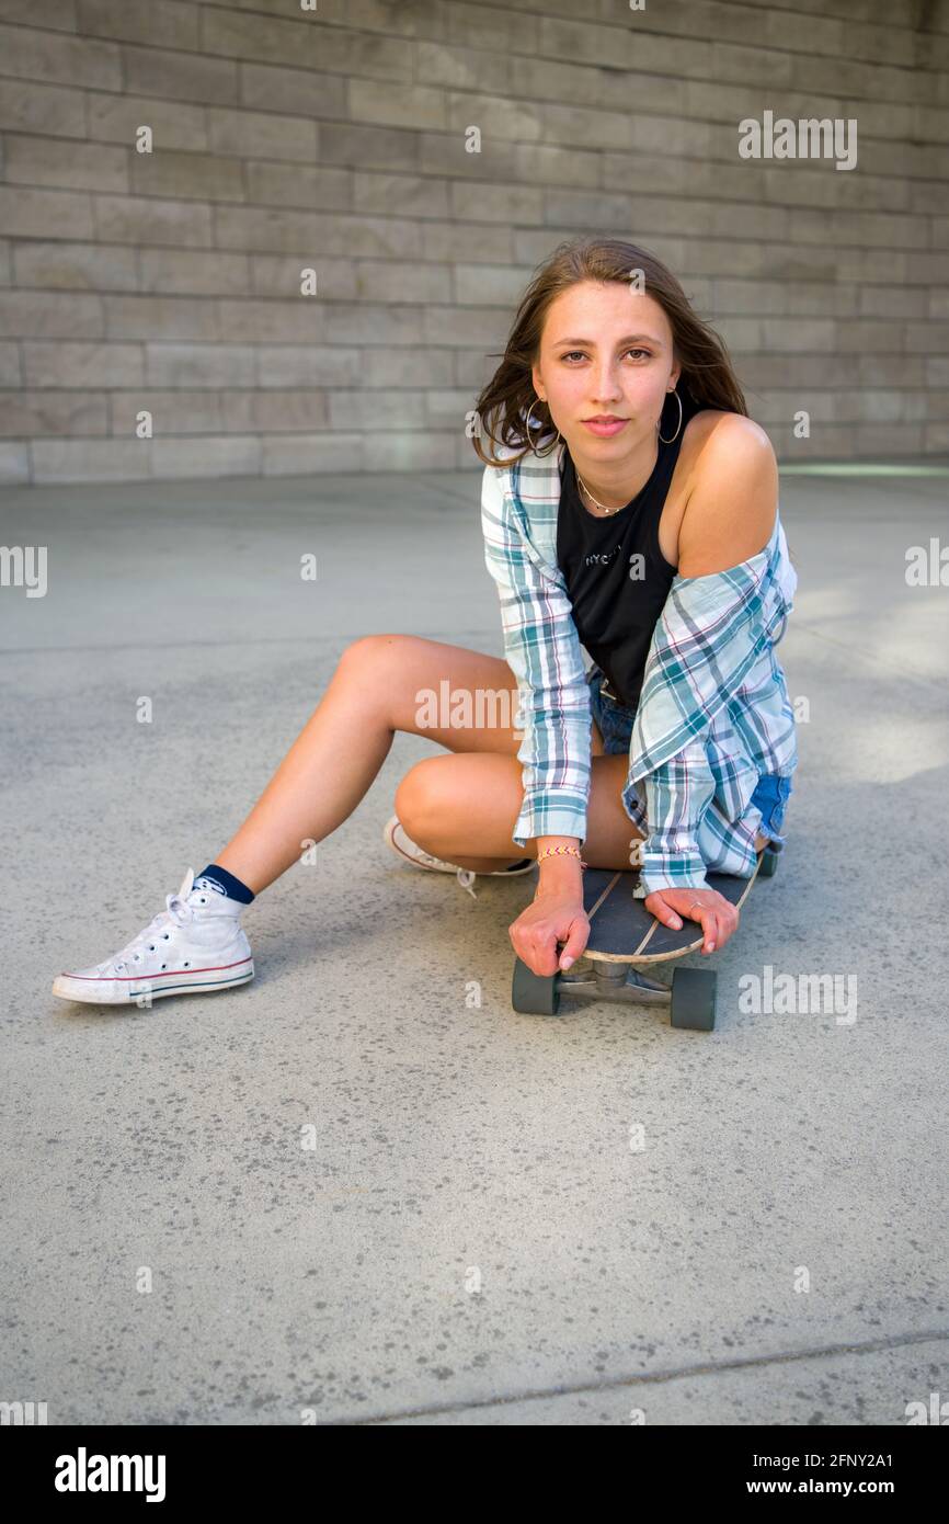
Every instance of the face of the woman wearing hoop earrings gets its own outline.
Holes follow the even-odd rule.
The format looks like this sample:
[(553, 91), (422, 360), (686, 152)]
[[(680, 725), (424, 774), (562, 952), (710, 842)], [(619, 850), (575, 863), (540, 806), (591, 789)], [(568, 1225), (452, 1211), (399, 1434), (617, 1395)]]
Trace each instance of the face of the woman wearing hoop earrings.
[[(679, 372), (672, 326), (653, 297), (618, 280), (580, 280), (547, 309), (532, 376), (571, 456), (621, 469), (655, 437)], [(620, 422), (591, 422), (606, 416)]]

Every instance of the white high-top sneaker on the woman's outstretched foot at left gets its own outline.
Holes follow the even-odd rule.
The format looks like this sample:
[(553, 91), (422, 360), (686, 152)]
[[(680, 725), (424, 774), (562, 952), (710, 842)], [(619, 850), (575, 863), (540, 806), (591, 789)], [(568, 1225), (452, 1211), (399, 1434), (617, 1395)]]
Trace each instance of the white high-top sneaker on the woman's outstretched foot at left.
[(245, 908), (218, 884), (189, 867), (177, 895), (126, 946), (93, 968), (59, 974), (53, 995), (94, 1006), (136, 1004), (143, 995), (193, 995), (232, 989), (254, 977), (250, 942), (241, 927)]

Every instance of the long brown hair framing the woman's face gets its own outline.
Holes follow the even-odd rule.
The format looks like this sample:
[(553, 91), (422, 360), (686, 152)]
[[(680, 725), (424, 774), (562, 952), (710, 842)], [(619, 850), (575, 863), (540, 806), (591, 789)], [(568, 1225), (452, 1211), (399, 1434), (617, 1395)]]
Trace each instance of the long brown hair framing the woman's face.
[[(669, 319), (673, 363), (678, 360), (682, 367), (676, 389), (692, 398), (690, 411), (714, 407), (748, 416), (725, 341), (696, 317), (682, 287), (663, 261), (623, 238), (580, 238), (559, 244), (533, 276), (521, 297), (501, 364), (475, 402), (477, 428), (471, 442), (486, 466), (510, 465), (542, 439), (556, 437), (550, 408), (538, 399), (530, 375), (539, 360), (550, 303), (579, 280), (617, 280), (628, 287), (632, 271), (643, 273), (646, 293), (655, 297)], [(527, 433), (524, 422), (532, 402)], [(519, 450), (521, 454), (506, 460), (484, 454), (478, 430), (494, 445)]]

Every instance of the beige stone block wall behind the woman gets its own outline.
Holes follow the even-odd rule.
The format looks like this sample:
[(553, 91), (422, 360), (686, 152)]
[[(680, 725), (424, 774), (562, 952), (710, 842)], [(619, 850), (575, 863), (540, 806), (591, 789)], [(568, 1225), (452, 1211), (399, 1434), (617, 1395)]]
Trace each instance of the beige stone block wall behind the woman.
[[(765, 113), (856, 122), (855, 168), (742, 157)], [(0, 0), (0, 480), (477, 469), (591, 232), (670, 264), (781, 459), (947, 451), (947, 0)]]

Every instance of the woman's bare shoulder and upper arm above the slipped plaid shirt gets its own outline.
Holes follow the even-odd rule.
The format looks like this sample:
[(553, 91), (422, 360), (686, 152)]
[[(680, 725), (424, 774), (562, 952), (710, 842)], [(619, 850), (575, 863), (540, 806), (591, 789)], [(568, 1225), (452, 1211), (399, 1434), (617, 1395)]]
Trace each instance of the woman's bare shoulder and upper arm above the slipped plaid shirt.
[(696, 424), (679, 523), (681, 576), (725, 572), (763, 550), (778, 498), (777, 459), (760, 424), (713, 408), (696, 413), (689, 430)]

